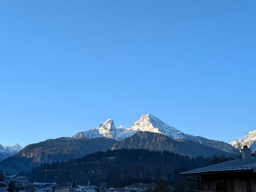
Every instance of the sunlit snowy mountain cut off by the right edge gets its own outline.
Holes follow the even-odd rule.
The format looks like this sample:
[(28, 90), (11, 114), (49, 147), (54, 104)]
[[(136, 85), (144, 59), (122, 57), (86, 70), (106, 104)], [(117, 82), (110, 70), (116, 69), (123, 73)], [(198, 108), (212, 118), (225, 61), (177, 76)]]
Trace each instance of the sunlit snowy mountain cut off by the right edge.
[(247, 145), (252, 149), (252, 151), (256, 151), (256, 130), (249, 131), (244, 139), (239, 138), (238, 140), (232, 141), (229, 144), (234, 146), (236, 149)]

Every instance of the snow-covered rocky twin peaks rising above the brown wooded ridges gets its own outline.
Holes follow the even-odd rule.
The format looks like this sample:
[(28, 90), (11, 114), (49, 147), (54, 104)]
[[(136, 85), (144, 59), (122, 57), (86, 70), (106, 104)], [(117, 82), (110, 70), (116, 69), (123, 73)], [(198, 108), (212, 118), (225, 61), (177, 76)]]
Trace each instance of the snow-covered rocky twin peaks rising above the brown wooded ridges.
[(113, 119), (108, 119), (104, 123), (101, 123), (97, 128), (77, 132), (76, 135), (73, 136), (73, 138), (107, 137), (110, 139), (122, 141), (123, 139), (131, 137), (139, 131), (160, 133), (164, 134), (167, 137), (170, 137), (171, 139), (186, 139), (229, 153), (232, 153), (235, 150), (233, 146), (222, 141), (210, 140), (204, 137), (185, 134), (179, 129), (165, 124), (160, 119), (156, 118), (151, 114), (143, 114), (139, 120), (135, 121), (132, 126), (127, 129), (122, 126), (116, 127), (114, 125)]

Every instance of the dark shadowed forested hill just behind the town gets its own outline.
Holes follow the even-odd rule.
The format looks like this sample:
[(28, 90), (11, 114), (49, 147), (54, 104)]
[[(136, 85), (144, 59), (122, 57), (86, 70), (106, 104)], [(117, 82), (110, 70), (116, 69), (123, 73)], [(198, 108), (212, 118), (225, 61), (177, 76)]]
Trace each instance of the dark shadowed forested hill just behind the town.
[(125, 186), (133, 182), (152, 183), (166, 180), (172, 183), (177, 174), (203, 166), (228, 160), (221, 158), (189, 158), (169, 151), (149, 151), (142, 149), (121, 149), (99, 151), (83, 158), (69, 159), (67, 162), (42, 164), (27, 173), (29, 180), (43, 181), (44, 169), (66, 169), (66, 171), (48, 172), (47, 182), (72, 182), (98, 185), (107, 182), (108, 186)]

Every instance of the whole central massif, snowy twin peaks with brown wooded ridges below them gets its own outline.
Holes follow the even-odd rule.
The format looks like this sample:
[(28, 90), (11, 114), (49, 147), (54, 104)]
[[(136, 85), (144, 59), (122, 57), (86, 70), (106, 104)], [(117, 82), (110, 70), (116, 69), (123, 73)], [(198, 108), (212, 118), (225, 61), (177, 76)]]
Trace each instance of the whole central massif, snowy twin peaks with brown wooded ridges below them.
[(44, 162), (65, 161), (97, 151), (122, 148), (170, 151), (189, 157), (232, 156), (236, 150), (225, 142), (185, 134), (151, 114), (143, 114), (128, 129), (116, 127), (113, 119), (108, 119), (97, 128), (77, 132), (72, 138), (48, 139), (19, 148), (22, 150), (17, 154), (0, 162), (0, 169), (29, 170)]

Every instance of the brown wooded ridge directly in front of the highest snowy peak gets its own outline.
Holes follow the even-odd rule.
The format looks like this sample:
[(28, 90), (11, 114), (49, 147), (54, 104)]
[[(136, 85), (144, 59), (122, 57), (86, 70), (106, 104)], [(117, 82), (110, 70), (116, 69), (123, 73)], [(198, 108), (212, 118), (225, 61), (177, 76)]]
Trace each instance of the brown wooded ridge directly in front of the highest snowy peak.
[(186, 139), (172, 139), (161, 133), (139, 131), (123, 141), (117, 141), (111, 150), (147, 149), (150, 151), (169, 151), (183, 156), (211, 157), (215, 155), (232, 156), (233, 154), (198, 144)]

